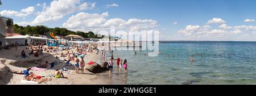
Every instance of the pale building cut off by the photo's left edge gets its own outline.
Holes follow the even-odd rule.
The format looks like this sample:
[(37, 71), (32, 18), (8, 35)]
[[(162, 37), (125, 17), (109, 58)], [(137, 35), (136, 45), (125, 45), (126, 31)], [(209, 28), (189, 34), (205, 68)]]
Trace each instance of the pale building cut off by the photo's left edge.
[[(0, 5), (2, 5), (1, 0), (0, 0)], [(2, 45), (6, 43), (5, 37), (6, 37), (7, 28), (8, 27), (7, 27), (6, 23), (3, 21), (2, 18), (0, 18), (0, 41), (2, 41)]]

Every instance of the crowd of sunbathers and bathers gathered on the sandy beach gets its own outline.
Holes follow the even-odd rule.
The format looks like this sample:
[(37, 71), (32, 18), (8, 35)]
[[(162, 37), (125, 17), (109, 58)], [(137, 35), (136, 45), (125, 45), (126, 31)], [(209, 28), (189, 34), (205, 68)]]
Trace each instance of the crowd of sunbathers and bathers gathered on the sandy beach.
[[(18, 42), (15, 42), (15, 50), (18, 47)], [(88, 53), (100, 53), (101, 50), (101, 56), (104, 58), (103, 60), (108, 61), (108, 66), (107, 68), (109, 69), (109, 75), (112, 76), (113, 74), (113, 66), (114, 62), (116, 63), (117, 70), (121, 73), (122, 69), (124, 70), (125, 73), (127, 73), (127, 60), (126, 59), (121, 59), (118, 55), (117, 58), (114, 59), (113, 56), (113, 50), (110, 52), (110, 57), (108, 58), (108, 54), (106, 54), (106, 47), (107, 46), (102, 46), (101, 43), (97, 42), (92, 42), (92, 43), (72, 43), (71, 46), (65, 46), (64, 49), (60, 49), (59, 46), (53, 47), (53, 46), (44, 46), (44, 43), (40, 43), (39, 45), (32, 45), (32, 43), (29, 43), (26, 47), (26, 49), (31, 50), (31, 53), (26, 54), (25, 49), (22, 50), (20, 54), (20, 58), (27, 58), (28, 55), (34, 55), (35, 57), (39, 55), (43, 55), (44, 53), (56, 53), (57, 51), (63, 51), (59, 55), (56, 56), (56, 59), (63, 59), (65, 61), (65, 66), (75, 66), (75, 72), (76, 73), (84, 73), (84, 68), (86, 66), (85, 63), (85, 56)], [(66, 53), (64, 53), (64, 50)], [(75, 52), (74, 52), (75, 51)], [(72, 65), (72, 62), (74, 63)], [(38, 66), (36, 68), (53, 68), (56, 64), (57, 61), (53, 62), (43, 62), (42, 59), (36, 60), (36, 63)], [(24, 80), (27, 81), (35, 81), (35, 82), (47, 82), (51, 80), (51, 78), (46, 78), (44, 76), (38, 76), (35, 75), (35, 73), (29, 72), (31, 68), (28, 68), (24, 71), (13, 71), (14, 73), (22, 74), (24, 76)], [(59, 71), (59, 69), (56, 69), (54, 73), (55, 78), (67, 78), (64, 77), (64, 74)]]

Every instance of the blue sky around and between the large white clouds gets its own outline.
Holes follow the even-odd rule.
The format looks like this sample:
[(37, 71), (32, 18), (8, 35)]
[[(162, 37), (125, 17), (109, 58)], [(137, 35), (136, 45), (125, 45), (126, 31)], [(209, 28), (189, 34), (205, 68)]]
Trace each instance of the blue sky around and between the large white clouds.
[[(20, 12), (24, 8), (33, 6), (35, 7), (33, 14), (22, 17), (14, 15), (7, 16), (13, 18), (15, 23), (18, 24), (23, 21), (28, 23), (35, 20), (38, 16), (35, 14), (37, 11), (43, 11), (42, 7), (36, 6), (38, 3), (40, 5), (46, 3), (46, 7), (49, 7), (51, 6), (51, 2), (53, 1), (2, 0), (3, 5), (0, 7), (0, 11), (1, 15), (5, 16), (6, 12), (2, 12), (4, 10)], [(76, 5), (79, 6), (84, 2), (87, 2), (88, 5), (96, 3), (96, 5), (90, 9), (72, 11), (54, 21), (43, 21), (43, 23), (36, 23), (34, 25), (46, 25), (51, 28), (69, 27), (68, 29), (72, 29), (71, 25), (73, 23), (68, 22), (72, 15), (84, 12), (89, 15), (98, 14), (100, 16), (102, 13), (108, 12), (108, 16), (100, 16), (97, 19), (104, 18), (106, 19), (105, 22), (114, 18), (120, 18), (126, 21), (129, 19), (156, 21), (157, 25), (152, 26), (154, 26), (154, 29), (160, 30), (160, 40), (256, 40), (256, 22), (254, 20), (256, 19), (256, 1), (254, 0), (80, 0), (80, 3), (76, 3)], [(113, 4), (118, 6), (106, 8), (106, 5)], [(86, 14), (82, 16), (84, 15)], [(209, 20), (213, 19), (221, 19), (225, 22), (213, 21), (213, 23), (207, 24)], [(246, 19), (248, 20), (245, 21)], [(174, 24), (175, 21), (177, 24)], [(101, 23), (104, 24), (105, 22), (102, 21)], [(152, 23), (151, 21), (146, 22), (148, 24)], [(64, 26), (64, 23), (68, 23), (69, 25)], [(88, 21), (82, 23), (88, 23)], [(99, 28), (97, 25), (100, 26), (96, 24), (92, 25), (92, 27)], [(203, 28), (205, 25), (209, 25), (210, 28)], [(222, 27), (220, 27), (221, 25)], [(80, 27), (80, 25), (77, 25), (77, 27)]]

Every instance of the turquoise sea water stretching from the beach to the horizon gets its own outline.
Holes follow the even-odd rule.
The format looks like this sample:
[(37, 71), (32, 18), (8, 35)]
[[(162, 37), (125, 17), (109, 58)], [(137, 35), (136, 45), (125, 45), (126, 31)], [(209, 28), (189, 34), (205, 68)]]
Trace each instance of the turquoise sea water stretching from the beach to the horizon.
[(119, 79), (126, 84), (256, 84), (256, 42), (167, 42), (159, 49), (156, 57), (143, 56), (148, 51), (114, 51), (128, 60), (127, 77)]

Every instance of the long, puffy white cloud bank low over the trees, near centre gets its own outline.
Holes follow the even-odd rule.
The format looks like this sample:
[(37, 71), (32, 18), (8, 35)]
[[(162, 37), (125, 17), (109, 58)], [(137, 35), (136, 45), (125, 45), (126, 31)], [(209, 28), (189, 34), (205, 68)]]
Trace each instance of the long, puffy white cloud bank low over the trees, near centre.
[(151, 19), (129, 19), (124, 20), (114, 18), (106, 20), (108, 12), (102, 14), (88, 14), (80, 12), (79, 14), (71, 16), (64, 24), (63, 27), (71, 30), (94, 31), (106, 30), (114, 26), (115, 29), (122, 30), (150, 30), (157, 27), (157, 21)]

